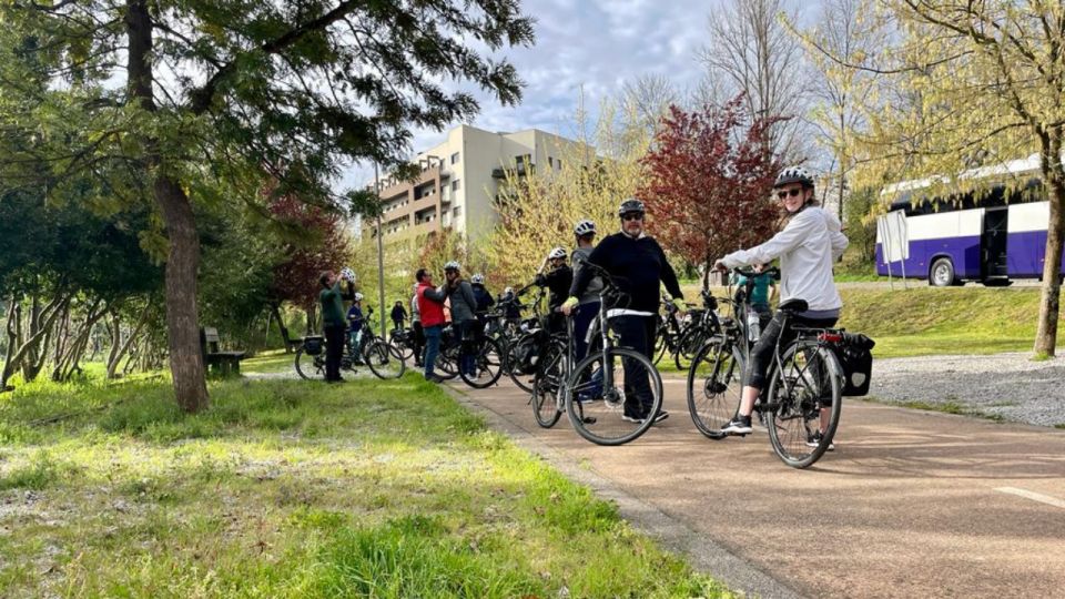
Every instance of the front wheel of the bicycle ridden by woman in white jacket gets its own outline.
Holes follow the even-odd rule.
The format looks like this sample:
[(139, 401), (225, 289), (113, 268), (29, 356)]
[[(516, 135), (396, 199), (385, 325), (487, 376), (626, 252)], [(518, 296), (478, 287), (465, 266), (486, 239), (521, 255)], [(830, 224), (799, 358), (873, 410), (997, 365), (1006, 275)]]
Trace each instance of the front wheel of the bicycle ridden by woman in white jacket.
[(710, 337), (688, 368), (688, 412), (691, 422), (708, 438), (723, 439), (721, 432), (743, 388), (743, 358), (724, 337)]

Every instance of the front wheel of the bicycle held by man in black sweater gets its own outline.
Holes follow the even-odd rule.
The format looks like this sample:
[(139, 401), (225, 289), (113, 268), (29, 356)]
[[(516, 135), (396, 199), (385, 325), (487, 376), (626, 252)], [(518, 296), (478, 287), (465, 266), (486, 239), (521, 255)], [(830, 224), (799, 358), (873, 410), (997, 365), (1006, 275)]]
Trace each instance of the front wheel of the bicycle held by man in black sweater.
[(610, 347), (591, 354), (570, 375), (566, 412), (577, 433), (598, 445), (623, 445), (655, 424), (662, 377), (642, 354)]

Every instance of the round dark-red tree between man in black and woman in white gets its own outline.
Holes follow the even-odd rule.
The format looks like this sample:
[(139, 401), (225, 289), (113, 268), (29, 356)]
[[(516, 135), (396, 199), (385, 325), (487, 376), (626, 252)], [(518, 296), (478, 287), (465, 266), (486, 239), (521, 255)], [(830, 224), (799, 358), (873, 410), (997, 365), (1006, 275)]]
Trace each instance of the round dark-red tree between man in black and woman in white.
[(779, 216), (770, 192), (780, 163), (768, 150), (768, 132), (783, 119), (748, 119), (741, 100), (693, 112), (671, 105), (641, 160), (647, 179), (637, 193), (658, 240), (706, 266), (703, 287), (716, 258), (761, 243)]

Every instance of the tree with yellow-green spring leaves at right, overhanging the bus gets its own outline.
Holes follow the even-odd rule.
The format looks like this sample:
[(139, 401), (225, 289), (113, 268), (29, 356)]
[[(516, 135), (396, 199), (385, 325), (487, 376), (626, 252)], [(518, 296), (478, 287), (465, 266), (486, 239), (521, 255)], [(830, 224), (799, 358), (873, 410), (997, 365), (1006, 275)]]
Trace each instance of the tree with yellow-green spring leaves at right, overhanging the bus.
[(865, 106), (869, 129), (855, 138), (855, 183), (932, 177), (931, 193), (1020, 187), (1024, 181), (1007, 174), (960, 174), (996, 173), (1036, 154), (1049, 222), (1034, 349), (1054, 355), (1065, 231), (1065, 4), (881, 0), (868, 18), (896, 26), (881, 37), (880, 54), (864, 64), (831, 57), (878, 74), (869, 83), (876, 87)]

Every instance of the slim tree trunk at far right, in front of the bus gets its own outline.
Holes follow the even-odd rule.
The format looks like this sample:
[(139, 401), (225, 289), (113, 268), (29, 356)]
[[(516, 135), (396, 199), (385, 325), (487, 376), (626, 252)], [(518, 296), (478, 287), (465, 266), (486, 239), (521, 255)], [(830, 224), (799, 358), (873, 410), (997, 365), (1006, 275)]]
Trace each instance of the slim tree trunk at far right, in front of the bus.
[(1046, 223), (1046, 252), (1039, 321), (1035, 332), (1036, 354), (1053, 356), (1057, 347), (1057, 321), (1062, 295), (1062, 242), (1065, 240), (1065, 169), (1062, 166), (1061, 130), (1043, 139), (1043, 180), (1049, 195), (1051, 217)]

